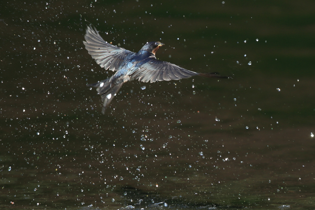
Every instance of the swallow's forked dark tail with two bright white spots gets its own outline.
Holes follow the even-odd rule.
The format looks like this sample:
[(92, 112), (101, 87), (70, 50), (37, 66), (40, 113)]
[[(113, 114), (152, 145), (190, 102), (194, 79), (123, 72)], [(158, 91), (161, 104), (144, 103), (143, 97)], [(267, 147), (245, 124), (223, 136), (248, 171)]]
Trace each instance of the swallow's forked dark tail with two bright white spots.
[(116, 96), (116, 93), (118, 92), (122, 85), (123, 83), (118, 84), (114, 83), (113, 81), (111, 81), (111, 78), (105, 79), (95, 84), (87, 85), (96, 87), (98, 94), (101, 96), (103, 102), (102, 114), (105, 113), (106, 107)]

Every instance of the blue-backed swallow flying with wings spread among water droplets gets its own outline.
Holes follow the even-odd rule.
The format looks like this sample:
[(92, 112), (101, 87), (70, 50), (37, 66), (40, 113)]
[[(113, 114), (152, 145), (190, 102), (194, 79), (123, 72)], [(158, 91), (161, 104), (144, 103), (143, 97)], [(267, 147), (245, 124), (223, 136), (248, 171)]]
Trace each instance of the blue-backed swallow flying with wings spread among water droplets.
[(84, 35), (85, 49), (88, 50), (96, 63), (114, 75), (95, 84), (88, 84), (96, 88), (102, 98), (102, 114), (110, 104), (118, 90), (125, 82), (138, 79), (140, 82), (169, 81), (190, 78), (195, 75), (213, 78), (229, 78), (218, 73), (197, 73), (189, 71), (175, 64), (157, 60), (155, 53), (164, 44), (161, 42), (148, 42), (139, 52), (131, 52), (104, 41), (99, 32), (88, 26)]

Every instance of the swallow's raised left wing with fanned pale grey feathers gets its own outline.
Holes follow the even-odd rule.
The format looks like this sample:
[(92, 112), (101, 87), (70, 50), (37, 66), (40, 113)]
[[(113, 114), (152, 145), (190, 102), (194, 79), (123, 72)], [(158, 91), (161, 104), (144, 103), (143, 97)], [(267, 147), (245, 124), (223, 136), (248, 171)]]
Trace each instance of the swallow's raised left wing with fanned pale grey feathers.
[(120, 64), (128, 55), (135, 54), (129, 50), (107, 43), (92, 26), (87, 27), (84, 38), (86, 40), (86, 42), (83, 41), (85, 49), (106, 70), (109, 68), (109, 70), (117, 71)]

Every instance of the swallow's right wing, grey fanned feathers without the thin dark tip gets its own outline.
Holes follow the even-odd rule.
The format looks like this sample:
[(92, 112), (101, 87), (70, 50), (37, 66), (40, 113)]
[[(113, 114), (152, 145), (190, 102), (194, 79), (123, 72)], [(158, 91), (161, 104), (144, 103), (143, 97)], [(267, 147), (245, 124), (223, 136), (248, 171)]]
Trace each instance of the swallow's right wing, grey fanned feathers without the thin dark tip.
[(150, 81), (152, 83), (163, 80), (184, 79), (194, 75), (199, 75), (199, 73), (189, 71), (166, 61), (159, 61), (156, 58), (151, 58), (136, 71), (131, 73), (130, 77), (139, 79), (141, 82)]

